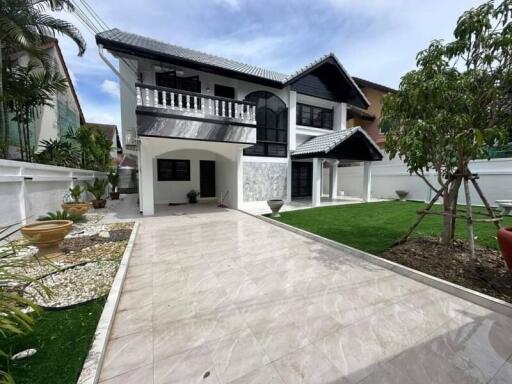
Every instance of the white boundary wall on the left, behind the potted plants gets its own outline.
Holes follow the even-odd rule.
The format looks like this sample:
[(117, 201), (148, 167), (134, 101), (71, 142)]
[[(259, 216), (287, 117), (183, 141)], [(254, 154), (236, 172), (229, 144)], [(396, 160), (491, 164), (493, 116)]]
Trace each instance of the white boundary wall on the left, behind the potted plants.
[(32, 222), (42, 214), (60, 210), (74, 184), (85, 184), (103, 172), (53, 165), (0, 160), (0, 226)]

